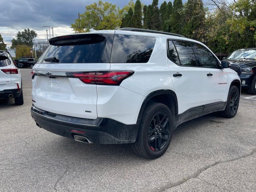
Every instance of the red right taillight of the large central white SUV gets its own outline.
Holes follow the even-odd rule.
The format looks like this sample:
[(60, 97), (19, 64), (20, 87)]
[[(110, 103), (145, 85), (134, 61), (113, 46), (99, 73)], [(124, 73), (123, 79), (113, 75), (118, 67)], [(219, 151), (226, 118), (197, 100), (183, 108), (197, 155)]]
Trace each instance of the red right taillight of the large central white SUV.
[(87, 84), (120, 85), (122, 80), (131, 76), (133, 71), (105, 71), (105, 72), (74, 72), (73, 77), (79, 78)]

